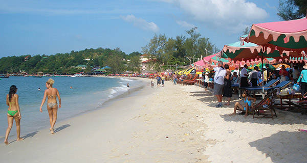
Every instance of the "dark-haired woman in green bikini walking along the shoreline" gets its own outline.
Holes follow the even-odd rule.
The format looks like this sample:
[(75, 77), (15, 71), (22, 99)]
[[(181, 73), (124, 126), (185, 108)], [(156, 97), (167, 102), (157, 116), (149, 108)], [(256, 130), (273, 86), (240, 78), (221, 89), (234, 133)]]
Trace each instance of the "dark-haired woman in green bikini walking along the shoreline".
[(10, 87), (10, 92), (7, 94), (7, 105), (9, 106), (8, 110), (8, 129), (5, 134), (5, 139), (4, 143), (9, 144), (8, 142), (8, 137), (10, 134), (10, 131), (13, 126), (13, 120), (15, 119), (16, 122), (16, 131), (17, 131), (17, 141), (23, 140), (23, 138), (20, 138), (20, 119), (21, 119), (21, 114), (19, 110), (19, 103), (18, 103), (18, 95), (16, 94), (17, 88), (16, 86), (11, 86)]

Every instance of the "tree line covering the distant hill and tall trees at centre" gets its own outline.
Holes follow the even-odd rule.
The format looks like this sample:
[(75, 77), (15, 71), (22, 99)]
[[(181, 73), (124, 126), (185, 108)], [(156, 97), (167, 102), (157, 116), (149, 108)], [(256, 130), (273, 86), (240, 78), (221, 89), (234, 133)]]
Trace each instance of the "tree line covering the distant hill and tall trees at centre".
[[(149, 56), (153, 71), (170, 69), (171, 65), (184, 66), (217, 52), (218, 49), (196, 32), (197, 28), (186, 31), (186, 35), (177, 36), (175, 39), (167, 38), (165, 34), (153, 36), (149, 43), (142, 47), (142, 52)], [(75, 74), (80, 71), (90, 73), (93, 67), (111, 67), (109, 73), (125, 73), (126, 71), (141, 72), (140, 56), (136, 51), (126, 55), (120, 48), (97, 48), (71, 51), (70, 53), (57, 53), (55, 55), (23, 55), (3, 57), (0, 59), (0, 73), (27, 72), (35, 74), (39, 71), (48, 74)], [(25, 58), (27, 57), (27, 60)], [(90, 59), (90, 60), (84, 60)], [(77, 65), (86, 65), (81, 69)]]

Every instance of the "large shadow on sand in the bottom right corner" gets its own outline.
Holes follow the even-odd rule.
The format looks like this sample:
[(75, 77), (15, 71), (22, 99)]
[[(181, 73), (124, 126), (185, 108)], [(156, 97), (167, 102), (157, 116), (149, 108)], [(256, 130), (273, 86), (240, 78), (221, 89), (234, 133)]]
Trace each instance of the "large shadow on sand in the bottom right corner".
[(279, 131), (271, 137), (250, 142), (251, 147), (266, 153), (272, 162), (306, 162), (306, 132)]

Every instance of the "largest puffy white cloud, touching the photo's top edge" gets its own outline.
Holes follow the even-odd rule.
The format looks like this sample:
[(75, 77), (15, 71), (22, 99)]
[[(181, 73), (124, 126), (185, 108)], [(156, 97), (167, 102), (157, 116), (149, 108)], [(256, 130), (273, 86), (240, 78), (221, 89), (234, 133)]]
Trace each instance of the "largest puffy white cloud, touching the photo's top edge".
[(180, 8), (188, 19), (199, 21), (212, 29), (231, 30), (238, 33), (244, 26), (264, 20), (269, 14), (245, 0), (157, 0)]

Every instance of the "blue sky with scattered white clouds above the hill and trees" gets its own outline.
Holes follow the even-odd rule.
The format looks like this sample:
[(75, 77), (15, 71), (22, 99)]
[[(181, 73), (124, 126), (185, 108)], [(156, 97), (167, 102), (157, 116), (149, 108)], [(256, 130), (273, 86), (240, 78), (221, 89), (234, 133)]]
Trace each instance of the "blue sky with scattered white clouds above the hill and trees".
[(0, 0), (0, 58), (85, 48), (142, 51), (193, 26), (222, 49), (253, 23), (280, 21), (279, 0)]

